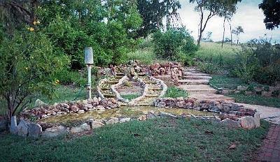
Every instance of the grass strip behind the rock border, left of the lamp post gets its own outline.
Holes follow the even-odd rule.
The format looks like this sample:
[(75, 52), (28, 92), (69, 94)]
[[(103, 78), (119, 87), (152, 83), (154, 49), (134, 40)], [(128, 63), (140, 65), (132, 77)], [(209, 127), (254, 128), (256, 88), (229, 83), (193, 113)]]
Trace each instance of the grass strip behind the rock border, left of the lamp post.
[[(44, 103), (52, 104), (52, 103), (60, 103), (62, 101), (73, 101), (73, 99), (75, 98), (76, 100), (85, 99), (86, 98), (85, 89), (82, 89), (82, 91), (80, 91), (80, 88), (78, 87), (59, 85), (57, 86), (56, 94), (54, 98), (50, 99), (47, 96), (43, 96), (43, 95), (32, 96), (32, 102), (31, 105), (29, 105), (29, 107), (32, 108), (34, 106), (34, 102), (36, 101), (36, 99), (40, 99)], [(0, 99), (0, 115), (5, 115), (7, 109), (6, 106), (7, 106), (6, 101)]]

